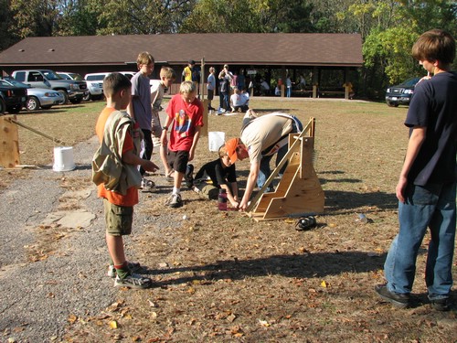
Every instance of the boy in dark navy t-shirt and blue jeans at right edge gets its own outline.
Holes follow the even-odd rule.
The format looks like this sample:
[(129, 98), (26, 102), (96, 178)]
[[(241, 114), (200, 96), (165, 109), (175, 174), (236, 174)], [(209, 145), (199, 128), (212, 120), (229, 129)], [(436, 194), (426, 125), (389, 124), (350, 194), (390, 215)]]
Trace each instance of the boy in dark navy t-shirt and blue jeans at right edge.
[(457, 75), (450, 71), (455, 39), (439, 29), (427, 31), (412, 56), (433, 77), (420, 80), (409, 104), (409, 143), (396, 188), (399, 234), (384, 264), (388, 282), (375, 291), (397, 307), (409, 306), (416, 258), (430, 228), (425, 281), (431, 306), (446, 311), (451, 307), (456, 221)]

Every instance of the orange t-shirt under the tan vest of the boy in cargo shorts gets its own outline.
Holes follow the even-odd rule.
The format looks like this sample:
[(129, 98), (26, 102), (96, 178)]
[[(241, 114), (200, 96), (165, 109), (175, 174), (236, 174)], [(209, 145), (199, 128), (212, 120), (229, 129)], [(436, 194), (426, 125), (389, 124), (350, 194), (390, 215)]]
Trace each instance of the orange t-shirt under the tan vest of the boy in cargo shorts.
[[(99, 115), (99, 119), (97, 120), (97, 124), (95, 125), (95, 133), (99, 137), (99, 141), (103, 140), (103, 132), (105, 129), (105, 123), (108, 120), (108, 117), (116, 111), (112, 107), (105, 107), (103, 111), (101, 111)], [(129, 132), (125, 136), (125, 140), (122, 145), (122, 154), (129, 150), (133, 150), (133, 139)], [(103, 184), (98, 186), (97, 192), (99, 198), (106, 198), (112, 204), (117, 206), (125, 206), (131, 207), (138, 203), (138, 189), (131, 187), (127, 189), (127, 194), (122, 195), (121, 193), (113, 192), (111, 190), (107, 190)]]

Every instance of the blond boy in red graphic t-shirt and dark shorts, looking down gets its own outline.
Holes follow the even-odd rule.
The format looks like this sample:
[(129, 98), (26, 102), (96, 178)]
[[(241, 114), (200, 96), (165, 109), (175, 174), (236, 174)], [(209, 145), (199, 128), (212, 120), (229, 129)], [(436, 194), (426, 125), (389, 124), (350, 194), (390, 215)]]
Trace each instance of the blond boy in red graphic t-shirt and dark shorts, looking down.
[[(183, 206), (181, 182), (186, 173), (187, 162), (194, 159), (200, 130), (203, 126), (203, 105), (197, 99), (197, 86), (184, 81), (166, 108), (166, 121), (162, 132), (162, 145), (168, 144), (166, 132), (170, 130), (168, 164), (175, 170), (174, 187), (165, 205), (172, 208)], [(171, 126), (170, 126), (171, 125)]]

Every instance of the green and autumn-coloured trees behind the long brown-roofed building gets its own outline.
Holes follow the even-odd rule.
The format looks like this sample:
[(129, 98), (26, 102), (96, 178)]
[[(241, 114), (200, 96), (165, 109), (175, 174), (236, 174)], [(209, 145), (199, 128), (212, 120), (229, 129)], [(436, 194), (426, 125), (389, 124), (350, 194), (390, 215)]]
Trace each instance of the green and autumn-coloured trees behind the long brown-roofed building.
[(423, 74), (410, 57), (410, 48), (422, 32), (442, 28), (455, 37), (457, 2), (0, 0), (0, 23), (0, 51), (27, 37), (359, 33), (363, 40), (364, 66), (358, 72), (356, 88), (362, 96), (380, 98), (388, 84)]

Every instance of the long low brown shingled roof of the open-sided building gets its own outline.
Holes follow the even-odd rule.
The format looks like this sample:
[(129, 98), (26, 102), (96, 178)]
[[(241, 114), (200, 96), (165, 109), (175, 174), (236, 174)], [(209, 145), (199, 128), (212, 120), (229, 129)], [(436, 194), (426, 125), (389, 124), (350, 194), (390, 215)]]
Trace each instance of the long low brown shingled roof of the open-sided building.
[(358, 34), (174, 34), (25, 38), (0, 53), (1, 67), (125, 65), (140, 51), (156, 62), (360, 67)]

